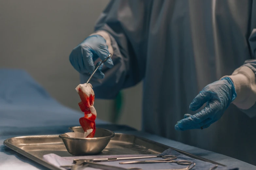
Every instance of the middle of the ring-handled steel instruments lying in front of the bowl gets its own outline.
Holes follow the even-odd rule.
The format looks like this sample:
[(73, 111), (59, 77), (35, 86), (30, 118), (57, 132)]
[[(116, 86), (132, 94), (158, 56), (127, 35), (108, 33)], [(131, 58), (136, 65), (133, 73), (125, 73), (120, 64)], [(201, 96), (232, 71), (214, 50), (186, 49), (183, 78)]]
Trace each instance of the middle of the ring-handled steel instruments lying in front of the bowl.
[(172, 155), (166, 155), (162, 156), (162, 160), (146, 160), (146, 161), (128, 161), (128, 162), (121, 162), (120, 164), (139, 164), (139, 163), (177, 163), (179, 165), (190, 165), (193, 162), (186, 161), (186, 160), (180, 160), (175, 161), (173, 159), (176, 159), (176, 156)]

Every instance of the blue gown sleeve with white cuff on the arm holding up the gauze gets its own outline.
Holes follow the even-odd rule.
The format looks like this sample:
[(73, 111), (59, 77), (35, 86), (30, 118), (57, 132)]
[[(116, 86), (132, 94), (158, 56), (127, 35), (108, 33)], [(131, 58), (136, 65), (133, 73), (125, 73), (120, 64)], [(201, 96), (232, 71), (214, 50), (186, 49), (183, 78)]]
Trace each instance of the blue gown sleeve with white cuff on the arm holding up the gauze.
[[(101, 13), (94, 34), (105, 38), (114, 66), (103, 66), (105, 78), (91, 79), (95, 97), (113, 99), (144, 78), (151, 4), (151, 0), (112, 0)], [(88, 78), (80, 75), (81, 83)]]

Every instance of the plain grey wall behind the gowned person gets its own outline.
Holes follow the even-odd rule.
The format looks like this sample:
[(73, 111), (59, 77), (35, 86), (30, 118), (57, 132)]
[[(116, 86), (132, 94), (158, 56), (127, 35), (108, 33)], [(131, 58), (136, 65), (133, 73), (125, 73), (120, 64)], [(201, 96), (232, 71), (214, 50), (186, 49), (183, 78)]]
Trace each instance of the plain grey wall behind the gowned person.
[[(108, 2), (0, 0), (0, 67), (25, 69), (60, 103), (79, 110), (75, 91), (79, 75), (68, 57), (93, 32)], [(124, 108), (118, 123), (140, 129), (141, 119), (132, 118), (141, 115), (142, 85), (123, 92)], [(113, 101), (95, 100), (94, 106), (98, 119), (110, 120)]]

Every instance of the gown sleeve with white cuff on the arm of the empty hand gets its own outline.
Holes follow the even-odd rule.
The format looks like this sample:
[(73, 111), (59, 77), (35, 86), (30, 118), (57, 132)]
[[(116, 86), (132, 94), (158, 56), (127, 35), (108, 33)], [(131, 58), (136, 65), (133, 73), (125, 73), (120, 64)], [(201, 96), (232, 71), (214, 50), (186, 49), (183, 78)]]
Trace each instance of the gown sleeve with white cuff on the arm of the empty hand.
[(256, 116), (256, 1), (251, 4), (251, 18), (247, 38), (250, 50), (250, 60), (237, 68), (230, 77), (237, 93), (232, 102), (250, 118)]

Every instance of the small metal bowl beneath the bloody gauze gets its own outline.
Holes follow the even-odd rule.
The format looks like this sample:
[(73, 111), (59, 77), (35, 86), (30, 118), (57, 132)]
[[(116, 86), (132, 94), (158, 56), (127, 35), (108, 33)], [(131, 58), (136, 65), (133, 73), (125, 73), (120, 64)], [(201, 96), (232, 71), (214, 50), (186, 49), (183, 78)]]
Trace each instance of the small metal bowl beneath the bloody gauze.
[(72, 155), (93, 155), (100, 153), (106, 148), (114, 136), (114, 132), (102, 128), (96, 128), (93, 138), (73, 138), (66, 134), (59, 135), (67, 151)]

